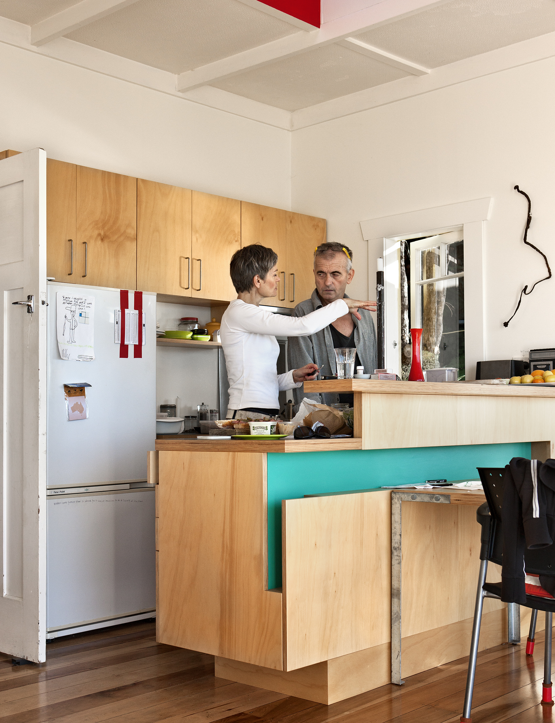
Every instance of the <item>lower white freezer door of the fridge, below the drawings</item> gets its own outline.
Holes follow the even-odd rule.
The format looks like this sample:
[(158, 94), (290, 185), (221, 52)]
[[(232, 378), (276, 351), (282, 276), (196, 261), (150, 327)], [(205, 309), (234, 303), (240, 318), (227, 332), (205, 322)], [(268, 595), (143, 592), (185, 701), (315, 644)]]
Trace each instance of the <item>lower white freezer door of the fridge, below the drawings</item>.
[(154, 615), (154, 489), (49, 496), (46, 505), (48, 633)]

